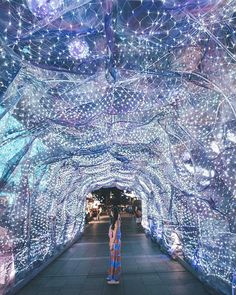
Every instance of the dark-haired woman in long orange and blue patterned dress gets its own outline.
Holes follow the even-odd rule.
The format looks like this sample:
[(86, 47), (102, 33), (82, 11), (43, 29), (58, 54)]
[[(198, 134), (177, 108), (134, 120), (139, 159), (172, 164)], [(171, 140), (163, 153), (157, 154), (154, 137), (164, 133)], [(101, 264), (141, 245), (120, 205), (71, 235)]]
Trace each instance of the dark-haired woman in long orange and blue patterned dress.
[(119, 284), (121, 274), (121, 219), (119, 210), (112, 210), (112, 223), (109, 228), (110, 265), (108, 269), (108, 284)]

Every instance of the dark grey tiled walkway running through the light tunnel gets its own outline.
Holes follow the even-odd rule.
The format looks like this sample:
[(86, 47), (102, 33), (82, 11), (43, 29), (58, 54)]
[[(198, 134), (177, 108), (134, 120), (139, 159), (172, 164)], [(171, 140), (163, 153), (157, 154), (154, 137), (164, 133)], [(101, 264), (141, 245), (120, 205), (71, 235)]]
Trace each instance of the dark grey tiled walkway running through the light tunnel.
[(50, 264), (18, 295), (207, 295), (204, 286), (178, 262), (162, 254), (122, 217), (122, 277), (107, 285), (108, 218), (90, 224), (82, 239)]

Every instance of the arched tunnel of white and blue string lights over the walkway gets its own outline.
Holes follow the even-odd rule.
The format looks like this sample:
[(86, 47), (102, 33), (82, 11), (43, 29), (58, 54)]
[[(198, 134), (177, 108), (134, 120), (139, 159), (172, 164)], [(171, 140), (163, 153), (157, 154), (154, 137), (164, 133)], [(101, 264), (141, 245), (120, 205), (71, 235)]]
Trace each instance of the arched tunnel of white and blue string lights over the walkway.
[[(0, 288), (84, 230), (102, 187), (222, 294), (236, 286), (236, 1), (0, 1)], [(234, 294), (234, 293), (233, 293)]]

